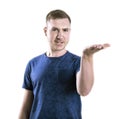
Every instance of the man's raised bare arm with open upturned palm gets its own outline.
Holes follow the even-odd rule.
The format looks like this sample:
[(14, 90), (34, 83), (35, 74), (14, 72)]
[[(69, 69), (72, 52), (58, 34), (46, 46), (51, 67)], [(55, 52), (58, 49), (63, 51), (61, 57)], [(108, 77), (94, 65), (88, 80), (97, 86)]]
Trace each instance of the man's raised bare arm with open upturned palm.
[(83, 51), (80, 71), (76, 74), (77, 77), (76, 86), (77, 91), (80, 95), (82, 96), (88, 95), (93, 87), (94, 83), (93, 54), (109, 46), (110, 46), (109, 44), (92, 45)]

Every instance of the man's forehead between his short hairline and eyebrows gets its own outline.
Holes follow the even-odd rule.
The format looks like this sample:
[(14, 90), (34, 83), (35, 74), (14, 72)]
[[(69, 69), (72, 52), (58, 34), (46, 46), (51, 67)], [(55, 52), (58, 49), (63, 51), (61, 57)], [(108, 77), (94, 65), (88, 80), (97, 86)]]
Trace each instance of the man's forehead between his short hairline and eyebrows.
[(67, 18), (63, 19), (50, 19), (47, 22), (47, 26), (49, 28), (57, 27), (57, 28), (70, 28), (71, 24)]

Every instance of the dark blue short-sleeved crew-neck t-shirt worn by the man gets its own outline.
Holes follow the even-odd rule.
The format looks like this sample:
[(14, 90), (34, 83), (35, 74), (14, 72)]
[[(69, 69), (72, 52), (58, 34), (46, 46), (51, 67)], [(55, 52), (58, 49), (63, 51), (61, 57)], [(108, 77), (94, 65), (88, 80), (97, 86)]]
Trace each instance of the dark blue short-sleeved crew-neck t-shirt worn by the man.
[(82, 119), (81, 98), (76, 91), (80, 57), (66, 52), (60, 57), (41, 54), (31, 59), (23, 88), (33, 91), (30, 119)]

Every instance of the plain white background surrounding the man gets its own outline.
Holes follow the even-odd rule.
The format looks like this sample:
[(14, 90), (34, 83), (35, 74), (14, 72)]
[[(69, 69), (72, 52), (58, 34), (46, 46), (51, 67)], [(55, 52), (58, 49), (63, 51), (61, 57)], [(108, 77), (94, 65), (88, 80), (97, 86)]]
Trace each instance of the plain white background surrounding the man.
[(71, 52), (81, 55), (91, 44), (111, 44), (94, 55), (95, 83), (82, 97), (83, 119), (120, 119), (119, 0), (1, 0), (0, 119), (17, 119), (26, 63), (46, 51), (45, 16), (56, 8), (71, 16)]

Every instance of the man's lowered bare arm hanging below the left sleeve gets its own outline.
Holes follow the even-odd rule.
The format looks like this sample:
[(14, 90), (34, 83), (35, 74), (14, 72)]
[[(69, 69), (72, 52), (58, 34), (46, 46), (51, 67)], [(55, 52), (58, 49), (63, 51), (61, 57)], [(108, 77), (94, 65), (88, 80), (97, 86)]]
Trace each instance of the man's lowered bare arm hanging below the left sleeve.
[(33, 102), (33, 93), (30, 90), (24, 90), (24, 98), (18, 119), (29, 119)]

